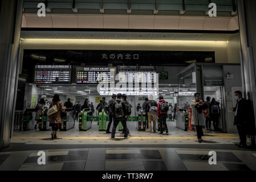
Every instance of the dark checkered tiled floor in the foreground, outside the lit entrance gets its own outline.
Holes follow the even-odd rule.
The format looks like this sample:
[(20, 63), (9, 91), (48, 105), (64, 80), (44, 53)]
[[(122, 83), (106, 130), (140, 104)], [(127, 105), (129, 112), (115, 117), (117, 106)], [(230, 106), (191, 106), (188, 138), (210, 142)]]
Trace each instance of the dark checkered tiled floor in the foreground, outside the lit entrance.
[[(217, 150), (217, 164), (208, 163), (210, 150), (189, 148), (76, 148), (46, 150), (46, 164), (39, 165), (38, 151), (0, 152), (0, 170), (56, 171), (251, 171), (255, 151)], [(19, 156), (20, 162), (16, 162)], [(242, 157), (241, 157), (242, 156)], [(250, 161), (250, 163), (248, 163)], [(18, 166), (17, 166), (18, 165)]]

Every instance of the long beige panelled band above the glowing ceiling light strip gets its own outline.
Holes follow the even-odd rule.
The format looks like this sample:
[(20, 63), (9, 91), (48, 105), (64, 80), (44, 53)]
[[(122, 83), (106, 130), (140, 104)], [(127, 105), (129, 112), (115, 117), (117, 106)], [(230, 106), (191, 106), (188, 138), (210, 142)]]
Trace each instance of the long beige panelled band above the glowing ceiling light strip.
[(237, 16), (23, 14), (22, 28), (115, 28), (150, 30), (239, 30)]

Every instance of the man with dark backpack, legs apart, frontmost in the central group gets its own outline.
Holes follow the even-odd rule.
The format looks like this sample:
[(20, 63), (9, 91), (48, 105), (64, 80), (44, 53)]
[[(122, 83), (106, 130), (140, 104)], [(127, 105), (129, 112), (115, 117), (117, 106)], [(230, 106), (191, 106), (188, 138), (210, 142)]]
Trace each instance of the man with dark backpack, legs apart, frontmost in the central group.
[(127, 125), (126, 122), (124, 122), (124, 118), (127, 118), (127, 107), (125, 106), (124, 102), (121, 100), (122, 94), (119, 93), (117, 94), (117, 99), (115, 102), (112, 104), (112, 111), (113, 111), (113, 128), (112, 128), (112, 133), (111, 133), (111, 138), (112, 140), (115, 139), (115, 133), (116, 133), (116, 127), (118, 126), (119, 122), (121, 121), (124, 127), (124, 138), (128, 138), (128, 130), (127, 130)]

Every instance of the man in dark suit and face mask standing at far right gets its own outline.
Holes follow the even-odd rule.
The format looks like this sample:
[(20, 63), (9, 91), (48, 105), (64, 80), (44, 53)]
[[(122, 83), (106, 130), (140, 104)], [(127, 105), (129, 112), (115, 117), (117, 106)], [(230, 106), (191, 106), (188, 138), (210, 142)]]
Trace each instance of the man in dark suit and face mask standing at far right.
[(238, 147), (246, 147), (247, 140), (247, 102), (245, 98), (242, 97), (241, 91), (235, 92), (235, 98), (237, 100), (237, 104), (234, 107), (234, 125), (237, 125), (237, 130), (240, 138), (240, 143), (237, 145)]

